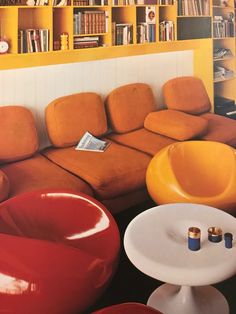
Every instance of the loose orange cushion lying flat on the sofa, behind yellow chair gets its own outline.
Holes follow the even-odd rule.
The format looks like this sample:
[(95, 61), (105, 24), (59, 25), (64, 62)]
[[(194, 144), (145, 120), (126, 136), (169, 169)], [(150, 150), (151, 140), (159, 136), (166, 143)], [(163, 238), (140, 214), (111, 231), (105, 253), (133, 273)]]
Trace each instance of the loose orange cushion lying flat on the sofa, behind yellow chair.
[(206, 134), (207, 125), (201, 117), (171, 109), (151, 112), (144, 121), (146, 129), (179, 141)]

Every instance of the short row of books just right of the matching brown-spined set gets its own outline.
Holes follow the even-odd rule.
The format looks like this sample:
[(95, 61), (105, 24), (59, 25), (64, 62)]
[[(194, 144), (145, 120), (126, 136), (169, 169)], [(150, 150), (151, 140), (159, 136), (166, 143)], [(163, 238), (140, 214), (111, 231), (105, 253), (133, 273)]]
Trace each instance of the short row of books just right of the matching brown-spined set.
[(129, 23), (112, 23), (112, 45), (129, 45), (133, 43), (133, 25)]

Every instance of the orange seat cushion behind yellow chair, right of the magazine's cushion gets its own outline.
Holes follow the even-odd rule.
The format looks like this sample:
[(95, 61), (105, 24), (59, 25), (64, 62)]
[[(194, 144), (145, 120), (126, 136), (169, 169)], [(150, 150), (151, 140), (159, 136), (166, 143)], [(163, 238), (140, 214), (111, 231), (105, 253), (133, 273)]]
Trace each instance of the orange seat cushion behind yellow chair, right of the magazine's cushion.
[(160, 149), (175, 141), (169, 137), (155, 134), (144, 128), (125, 134), (111, 133), (109, 138), (119, 144), (135, 148), (154, 156)]

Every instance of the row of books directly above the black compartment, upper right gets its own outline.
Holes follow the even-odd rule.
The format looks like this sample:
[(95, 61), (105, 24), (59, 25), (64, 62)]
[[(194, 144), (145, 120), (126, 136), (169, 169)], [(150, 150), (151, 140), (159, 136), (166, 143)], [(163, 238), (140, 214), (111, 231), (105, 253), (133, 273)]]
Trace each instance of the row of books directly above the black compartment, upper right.
[(209, 0), (179, 0), (178, 15), (210, 15)]

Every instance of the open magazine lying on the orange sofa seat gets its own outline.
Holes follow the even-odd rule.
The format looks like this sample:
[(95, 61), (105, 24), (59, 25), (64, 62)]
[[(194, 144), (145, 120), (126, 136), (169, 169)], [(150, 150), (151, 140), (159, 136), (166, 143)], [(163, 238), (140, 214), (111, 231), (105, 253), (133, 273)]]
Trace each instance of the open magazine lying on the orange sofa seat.
[(91, 133), (85, 132), (75, 149), (101, 153), (104, 152), (109, 145), (110, 142), (102, 141), (93, 136)]

